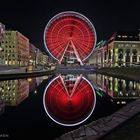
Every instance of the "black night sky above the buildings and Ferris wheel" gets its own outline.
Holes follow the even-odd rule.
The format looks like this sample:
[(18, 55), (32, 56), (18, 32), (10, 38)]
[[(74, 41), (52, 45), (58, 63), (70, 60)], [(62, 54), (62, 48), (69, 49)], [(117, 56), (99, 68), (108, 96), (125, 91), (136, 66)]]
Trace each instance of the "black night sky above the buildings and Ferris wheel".
[(47, 22), (59, 12), (75, 11), (87, 16), (95, 26), (97, 39), (106, 40), (117, 30), (140, 29), (139, 0), (44, 0), (0, 2), (0, 22), (15, 29), (44, 49)]

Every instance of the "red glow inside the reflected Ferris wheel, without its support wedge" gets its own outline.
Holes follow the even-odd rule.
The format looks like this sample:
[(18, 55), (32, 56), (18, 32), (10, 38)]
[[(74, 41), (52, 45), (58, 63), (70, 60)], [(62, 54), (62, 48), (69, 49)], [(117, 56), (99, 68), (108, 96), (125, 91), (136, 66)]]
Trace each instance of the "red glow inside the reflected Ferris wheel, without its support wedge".
[(80, 79), (72, 97), (69, 97), (59, 77), (49, 85), (44, 99), (45, 107), (54, 120), (63, 124), (75, 124), (93, 111), (95, 98), (92, 87), (84, 78)]

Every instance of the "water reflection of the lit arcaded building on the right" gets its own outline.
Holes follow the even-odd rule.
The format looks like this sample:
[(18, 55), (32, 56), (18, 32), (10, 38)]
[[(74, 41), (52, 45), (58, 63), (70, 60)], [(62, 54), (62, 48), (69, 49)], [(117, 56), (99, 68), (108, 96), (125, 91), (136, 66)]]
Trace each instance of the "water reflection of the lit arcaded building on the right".
[(140, 83), (101, 74), (89, 76), (96, 87), (113, 99), (136, 99), (140, 97)]

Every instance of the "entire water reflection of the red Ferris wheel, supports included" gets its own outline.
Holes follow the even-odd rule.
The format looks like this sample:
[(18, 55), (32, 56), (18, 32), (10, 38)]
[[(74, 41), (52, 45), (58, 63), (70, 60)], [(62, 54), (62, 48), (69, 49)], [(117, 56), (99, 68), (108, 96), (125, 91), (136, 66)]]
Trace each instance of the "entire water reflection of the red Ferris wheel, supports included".
[(91, 83), (82, 75), (59, 75), (47, 85), (43, 104), (54, 122), (75, 126), (90, 117), (96, 95)]

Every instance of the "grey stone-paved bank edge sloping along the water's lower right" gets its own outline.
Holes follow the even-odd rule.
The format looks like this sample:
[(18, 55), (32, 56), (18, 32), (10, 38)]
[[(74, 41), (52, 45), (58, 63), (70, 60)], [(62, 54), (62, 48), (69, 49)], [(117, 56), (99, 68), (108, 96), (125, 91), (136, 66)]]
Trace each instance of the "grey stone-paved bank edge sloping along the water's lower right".
[[(127, 104), (110, 116), (93, 121), (90, 124), (68, 132), (55, 140), (99, 140), (138, 113), (140, 113), (140, 99)], [(103, 140), (109, 139), (107, 137)]]

